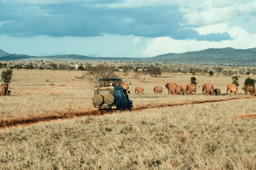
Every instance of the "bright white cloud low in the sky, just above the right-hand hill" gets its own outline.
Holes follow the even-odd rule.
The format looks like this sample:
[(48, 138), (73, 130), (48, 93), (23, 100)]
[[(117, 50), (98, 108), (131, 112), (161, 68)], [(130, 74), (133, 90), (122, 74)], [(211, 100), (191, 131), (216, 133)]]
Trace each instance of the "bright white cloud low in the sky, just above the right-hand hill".
[(207, 25), (196, 30), (202, 35), (212, 32), (228, 32), (233, 39), (222, 41), (198, 41), (175, 40), (170, 37), (158, 37), (148, 40), (147, 46), (137, 53), (144, 57), (154, 57), (166, 53), (185, 53), (207, 48), (255, 48), (256, 33), (247, 32), (239, 26), (229, 28), (228, 23), (222, 23)]

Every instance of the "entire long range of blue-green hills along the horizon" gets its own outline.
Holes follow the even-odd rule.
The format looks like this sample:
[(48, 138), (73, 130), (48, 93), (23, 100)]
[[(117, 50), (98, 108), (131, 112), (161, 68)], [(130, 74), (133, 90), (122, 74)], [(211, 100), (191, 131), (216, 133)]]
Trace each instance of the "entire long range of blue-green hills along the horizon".
[(0, 61), (12, 60), (42, 60), (51, 61), (123, 61), (123, 62), (154, 62), (173, 64), (202, 64), (202, 65), (230, 65), (230, 66), (256, 66), (256, 48), (209, 48), (195, 52), (168, 53), (148, 58), (128, 57), (90, 57), (83, 55), (55, 55), (55, 56), (28, 56), (23, 54), (9, 54), (0, 49)]

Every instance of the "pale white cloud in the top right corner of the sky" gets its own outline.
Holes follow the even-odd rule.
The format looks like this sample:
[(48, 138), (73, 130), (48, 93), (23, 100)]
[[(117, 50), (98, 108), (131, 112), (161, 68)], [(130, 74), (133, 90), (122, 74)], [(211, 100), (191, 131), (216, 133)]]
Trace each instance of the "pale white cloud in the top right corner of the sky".
[(256, 12), (256, 2), (247, 1), (212, 1), (207, 0), (197, 6), (181, 5), (179, 12), (182, 15), (181, 25), (207, 25), (228, 22), (237, 16), (250, 18)]

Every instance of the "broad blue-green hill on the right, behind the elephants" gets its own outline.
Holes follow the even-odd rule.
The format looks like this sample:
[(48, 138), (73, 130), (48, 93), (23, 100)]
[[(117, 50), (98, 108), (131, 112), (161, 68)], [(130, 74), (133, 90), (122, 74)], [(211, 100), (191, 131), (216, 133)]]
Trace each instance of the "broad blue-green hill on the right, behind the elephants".
[[(196, 52), (181, 54), (168, 53), (147, 58), (148, 62), (166, 62), (174, 64), (205, 64), (205, 65), (232, 65), (256, 66), (256, 48), (209, 48)], [(142, 62), (143, 62), (142, 61)]]

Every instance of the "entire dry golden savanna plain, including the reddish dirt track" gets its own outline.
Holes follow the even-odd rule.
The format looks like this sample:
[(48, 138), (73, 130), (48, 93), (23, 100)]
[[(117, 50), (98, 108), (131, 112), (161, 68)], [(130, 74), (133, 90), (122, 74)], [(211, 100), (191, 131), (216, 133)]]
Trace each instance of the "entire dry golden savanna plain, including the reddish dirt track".
[[(0, 97), (0, 169), (256, 168), (255, 118), (238, 117), (256, 111), (255, 97), (241, 89), (248, 75), (230, 96), (232, 79), (222, 75), (163, 73), (139, 81), (134, 73), (116, 74), (129, 84), (132, 112), (93, 111), (95, 84), (86, 71), (14, 69), (11, 96)], [(189, 84), (193, 76), (196, 95), (168, 95), (166, 83)], [(202, 95), (204, 83), (222, 95)], [(135, 87), (145, 95), (135, 95)]]

